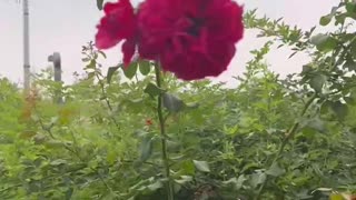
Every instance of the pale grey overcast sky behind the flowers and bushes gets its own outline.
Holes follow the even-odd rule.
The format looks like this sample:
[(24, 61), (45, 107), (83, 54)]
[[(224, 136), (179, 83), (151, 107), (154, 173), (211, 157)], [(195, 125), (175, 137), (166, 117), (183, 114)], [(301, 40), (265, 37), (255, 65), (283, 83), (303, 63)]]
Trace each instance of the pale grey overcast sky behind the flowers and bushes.
[[(102, 12), (96, 0), (29, 0), (31, 71), (49, 66), (47, 57), (58, 51), (62, 57), (63, 80), (69, 83), (72, 72), (82, 72), (81, 46), (93, 40), (96, 24)], [(132, 0), (137, 3), (138, 0)], [(258, 13), (269, 18), (284, 17), (289, 24), (309, 29), (318, 23), (322, 14), (328, 13), (339, 0), (240, 0), (246, 9), (258, 8)], [(230, 80), (244, 71), (249, 51), (260, 47), (254, 32), (248, 31), (237, 48), (229, 70), (217, 80)], [(115, 66), (121, 60), (120, 48), (109, 51), (105, 66)], [(299, 56), (287, 60), (288, 52), (278, 50), (268, 57), (274, 71), (287, 74), (301, 69), (307, 58)], [(0, 0), (0, 76), (16, 82), (22, 80), (22, 7), (17, 0)]]

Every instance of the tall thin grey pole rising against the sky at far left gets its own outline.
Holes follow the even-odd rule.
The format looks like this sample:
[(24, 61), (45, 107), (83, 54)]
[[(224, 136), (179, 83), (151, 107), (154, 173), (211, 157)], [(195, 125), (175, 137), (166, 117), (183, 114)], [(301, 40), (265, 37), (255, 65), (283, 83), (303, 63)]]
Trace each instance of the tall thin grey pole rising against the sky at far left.
[(23, 0), (23, 89), (30, 89), (29, 1)]

